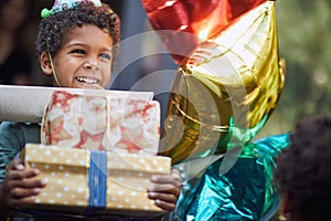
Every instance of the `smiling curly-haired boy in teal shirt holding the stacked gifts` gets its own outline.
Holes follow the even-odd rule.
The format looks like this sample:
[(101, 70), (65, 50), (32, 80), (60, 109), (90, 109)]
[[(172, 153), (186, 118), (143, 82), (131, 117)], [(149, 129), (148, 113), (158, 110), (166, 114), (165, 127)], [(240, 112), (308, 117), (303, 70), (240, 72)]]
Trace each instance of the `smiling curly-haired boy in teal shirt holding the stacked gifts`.
[[(94, 2), (75, 3), (41, 21), (36, 53), (53, 86), (107, 88), (110, 82), (111, 66), (118, 57), (120, 21), (108, 7)], [(35, 179), (38, 169), (28, 170), (20, 160), (13, 160), (26, 143), (41, 143), (39, 125), (0, 125), (0, 214), (33, 203), (47, 185)], [(161, 209), (173, 210), (180, 194), (178, 170), (152, 176), (151, 181), (154, 185), (148, 189), (148, 197)]]

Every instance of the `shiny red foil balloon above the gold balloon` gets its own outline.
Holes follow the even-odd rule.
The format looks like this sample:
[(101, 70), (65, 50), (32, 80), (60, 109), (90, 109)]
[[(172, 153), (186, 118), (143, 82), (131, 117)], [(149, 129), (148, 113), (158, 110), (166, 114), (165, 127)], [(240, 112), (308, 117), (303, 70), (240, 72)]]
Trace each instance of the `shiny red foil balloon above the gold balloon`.
[(175, 63), (196, 45), (218, 34), (232, 21), (266, 0), (141, 0), (154, 30)]

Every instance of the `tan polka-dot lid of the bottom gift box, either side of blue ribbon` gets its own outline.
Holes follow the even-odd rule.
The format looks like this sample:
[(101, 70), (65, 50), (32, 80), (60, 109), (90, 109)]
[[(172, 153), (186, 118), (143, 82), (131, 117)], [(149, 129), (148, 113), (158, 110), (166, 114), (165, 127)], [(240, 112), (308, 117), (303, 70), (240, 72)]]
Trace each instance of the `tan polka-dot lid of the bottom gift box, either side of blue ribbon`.
[[(89, 167), (90, 151), (62, 148), (52, 145), (26, 144), (20, 152), (25, 162)], [(145, 173), (170, 173), (171, 158), (162, 156), (138, 156), (135, 154), (108, 152), (107, 169), (139, 171)]]

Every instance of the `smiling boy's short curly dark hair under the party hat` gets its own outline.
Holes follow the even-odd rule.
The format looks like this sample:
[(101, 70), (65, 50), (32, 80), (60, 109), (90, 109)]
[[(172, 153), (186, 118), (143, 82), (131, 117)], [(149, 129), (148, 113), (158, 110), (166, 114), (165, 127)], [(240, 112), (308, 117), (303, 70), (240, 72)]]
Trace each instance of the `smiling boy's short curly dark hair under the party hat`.
[(40, 62), (43, 52), (50, 52), (52, 56), (55, 56), (67, 34), (83, 24), (95, 24), (109, 31), (114, 41), (114, 66), (119, 56), (120, 19), (108, 4), (95, 7), (88, 1), (42, 19), (36, 38), (38, 61)]

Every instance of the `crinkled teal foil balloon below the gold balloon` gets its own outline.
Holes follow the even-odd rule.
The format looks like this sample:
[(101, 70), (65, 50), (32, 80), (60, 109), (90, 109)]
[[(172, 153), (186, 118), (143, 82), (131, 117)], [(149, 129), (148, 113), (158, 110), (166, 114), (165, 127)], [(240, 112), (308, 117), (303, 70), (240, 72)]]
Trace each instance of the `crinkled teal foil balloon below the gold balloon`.
[(200, 179), (183, 185), (173, 219), (269, 220), (280, 203), (273, 182), (275, 157), (288, 146), (288, 134), (248, 144), (226, 173), (221, 172), (223, 159), (218, 159)]

